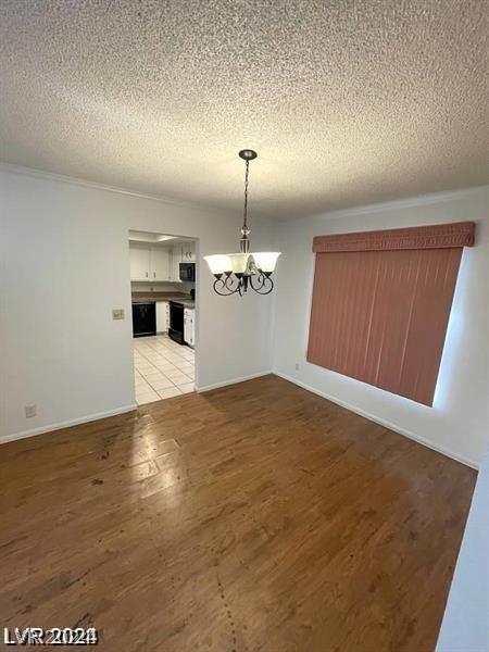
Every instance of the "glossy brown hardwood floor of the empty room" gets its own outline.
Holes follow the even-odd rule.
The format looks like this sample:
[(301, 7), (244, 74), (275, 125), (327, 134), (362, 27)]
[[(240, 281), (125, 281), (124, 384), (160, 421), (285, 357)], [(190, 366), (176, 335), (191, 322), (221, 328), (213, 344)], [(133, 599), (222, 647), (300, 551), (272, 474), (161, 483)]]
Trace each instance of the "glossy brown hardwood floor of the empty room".
[[(462, 436), (462, 434), (461, 434)], [(476, 474), (274, 376), (0, 447), (2, 627), (432, 650)]]

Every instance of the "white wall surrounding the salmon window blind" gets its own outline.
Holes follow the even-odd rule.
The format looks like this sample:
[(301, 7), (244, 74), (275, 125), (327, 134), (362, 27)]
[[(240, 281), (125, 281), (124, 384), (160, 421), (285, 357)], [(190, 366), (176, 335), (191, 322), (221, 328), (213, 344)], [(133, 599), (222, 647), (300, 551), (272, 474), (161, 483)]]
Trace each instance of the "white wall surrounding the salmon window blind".
[[(432, 408), (305, 362), (314, 236), (460, 221), (477, 223), (476, 247), (464, 250)], [(489, 442), (489, 187), (301, 218), (280, 226), (278, 246), (274, 371), (476, 466)]]

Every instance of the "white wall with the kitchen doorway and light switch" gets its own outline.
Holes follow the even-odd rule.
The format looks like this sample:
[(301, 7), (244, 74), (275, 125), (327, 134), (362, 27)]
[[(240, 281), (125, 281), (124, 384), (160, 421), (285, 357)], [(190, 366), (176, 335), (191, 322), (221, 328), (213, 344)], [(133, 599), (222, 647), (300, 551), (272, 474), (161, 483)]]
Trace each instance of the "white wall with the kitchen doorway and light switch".
[[(204, 255), (236, 250), (239, 228), (239, 213), (0, 171), (0, 437), (134, 405), (128, 229), (199, 238)], [(252, 220), (253, 244), (269, 240)], [(205, 264), (198, 279), (198, 386), (269, 371), (269, 298), (217, 297)]]

